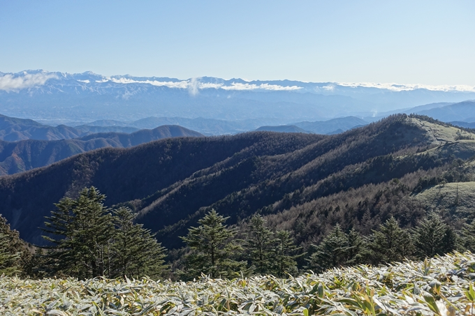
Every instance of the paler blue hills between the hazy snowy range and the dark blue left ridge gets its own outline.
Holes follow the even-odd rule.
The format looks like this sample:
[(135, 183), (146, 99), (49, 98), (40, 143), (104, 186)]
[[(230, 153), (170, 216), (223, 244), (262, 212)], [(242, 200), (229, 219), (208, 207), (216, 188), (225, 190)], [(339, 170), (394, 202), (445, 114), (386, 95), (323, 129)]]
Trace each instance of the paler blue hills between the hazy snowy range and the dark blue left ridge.
[[(261, 123), (276, 123), (278, 120), (243, 120), (224, 121), (217, 119), (185, 119), (182, 117), (147, 117), (137, 121), (98, 120), (80, 126), (43, 125), (31, 119), (18, 119), (0, 115), (0, 140), (16, 142), (18, 140), (69, 140), (94, 133), (133, 133), (141, 129), (153, 129), (163, 125), (178, 125), (196, 130), (203, 135), (223, 135), (247, 132), (250, 130), (272, 130), (287, 133), (341, 133), (368, 122), (354, 116), (347, 116), (329, 121), (296, 122), (291, 125), (261, 127)], [(71, 125), (75, 125), (74, 122)], [(280, 127), (283, 126), (283, 127)]]

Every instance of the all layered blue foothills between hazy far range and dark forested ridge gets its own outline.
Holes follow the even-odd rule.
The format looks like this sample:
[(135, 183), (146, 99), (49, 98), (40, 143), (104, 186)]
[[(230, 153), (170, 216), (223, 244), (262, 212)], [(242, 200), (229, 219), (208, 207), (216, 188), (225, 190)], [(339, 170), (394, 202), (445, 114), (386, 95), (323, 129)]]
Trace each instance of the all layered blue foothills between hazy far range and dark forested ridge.
[[(17, 119), (0, 115), (0, 176), (45, 167), (78, 153), (103, 147), (126, 148), (166, 137), (201, 137), (203, 134), (177, 125), (156, 124), (182, 123), (207, 130), (208, 134), (232, 133), (237, 128), (254, 128), (242, 123), (214, 119), (182, 119), (149, 117), (133, 122), (113, 120), (94, 121), (91, 125), (46, 126), (31, 119)], [(254, 122), (255, 123), (255, 122)], [(268, 126), (258, 130), (286, 133), (342, 133), (354, 127), (365, 125), (356, 117), (346, 117), (322, 122), (300, 122), (311, 131), (298, 126)], [(104, 126), (102, 126), (104, 125)], [(126, 126), (126, 125), (132, 125)], [(141, 129), (139, 129), (141, 128)], [(112, 130), (112, 132), (110, 132)], [(328, 132), (331, 131), (331, 132)], [(125, 133), (124, 133), (125, 132)], [(131, 133), (132, 132), (132, 133)]]

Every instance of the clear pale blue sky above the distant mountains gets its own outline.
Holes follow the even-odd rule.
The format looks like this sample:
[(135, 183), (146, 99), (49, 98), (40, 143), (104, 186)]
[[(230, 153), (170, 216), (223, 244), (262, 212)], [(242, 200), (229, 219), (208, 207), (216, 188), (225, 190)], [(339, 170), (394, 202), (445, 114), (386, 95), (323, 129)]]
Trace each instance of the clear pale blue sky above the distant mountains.
[(0, 0), (0, 71), (475, 86), (475, 1)]

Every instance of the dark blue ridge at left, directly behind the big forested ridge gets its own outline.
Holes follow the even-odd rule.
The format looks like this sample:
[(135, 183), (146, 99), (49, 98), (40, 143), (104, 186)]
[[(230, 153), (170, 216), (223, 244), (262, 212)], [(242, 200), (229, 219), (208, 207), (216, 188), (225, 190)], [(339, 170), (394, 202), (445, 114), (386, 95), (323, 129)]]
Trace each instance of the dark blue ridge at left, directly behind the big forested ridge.
[(0, 176), (45, 167), (78, 153), (103, 147), (127, 148), (168, 137), (201, 136), (203, 135), (181, 126), (159, 126), (131, 134), (96, 133), (66, 140), (0, 140)]

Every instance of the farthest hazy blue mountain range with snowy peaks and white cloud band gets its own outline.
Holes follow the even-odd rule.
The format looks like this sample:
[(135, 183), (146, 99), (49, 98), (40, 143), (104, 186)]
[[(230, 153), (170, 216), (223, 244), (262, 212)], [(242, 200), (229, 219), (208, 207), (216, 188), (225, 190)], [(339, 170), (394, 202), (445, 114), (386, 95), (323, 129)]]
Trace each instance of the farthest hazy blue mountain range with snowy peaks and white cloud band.
[(54, 121), (54, 125), (98, 119), (136, 121), (149, 116), (279, 120), (258, 125), (269, 126), (340, 116), (377, 116), (416, 105), (469, 99), (475, 99), (474, 87), (214, 77), (178, 80), (43, 70), (0, 73), (0, 113)]

